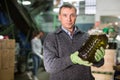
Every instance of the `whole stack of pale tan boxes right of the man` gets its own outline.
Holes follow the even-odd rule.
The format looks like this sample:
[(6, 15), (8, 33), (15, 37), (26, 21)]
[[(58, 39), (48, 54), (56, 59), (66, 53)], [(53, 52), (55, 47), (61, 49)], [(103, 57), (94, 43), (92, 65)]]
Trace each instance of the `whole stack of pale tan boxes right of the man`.
[[(101, 67), (91, 67), (91, 70), (93, 72), (95, 80), (112, 80), (114, 75), (114, 69), (113, 66), (115, 66), (116, 63), (116, 50), (115, 49), (106, 49), (105, 50), (105, 63)], [(102, 79), (99, 79), (99, 77), (102, 77)], [(106, 78), (110, 79), (106, 79)]]

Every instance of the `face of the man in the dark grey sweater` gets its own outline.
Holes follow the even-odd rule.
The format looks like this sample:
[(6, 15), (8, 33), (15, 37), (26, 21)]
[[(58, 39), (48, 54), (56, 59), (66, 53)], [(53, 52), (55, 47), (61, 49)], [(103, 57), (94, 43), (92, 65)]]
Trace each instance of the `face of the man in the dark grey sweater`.
[(59, 14), (59, 20), (65, 29), (72, 29), (76, 21), (75, 9), (63, 7)]

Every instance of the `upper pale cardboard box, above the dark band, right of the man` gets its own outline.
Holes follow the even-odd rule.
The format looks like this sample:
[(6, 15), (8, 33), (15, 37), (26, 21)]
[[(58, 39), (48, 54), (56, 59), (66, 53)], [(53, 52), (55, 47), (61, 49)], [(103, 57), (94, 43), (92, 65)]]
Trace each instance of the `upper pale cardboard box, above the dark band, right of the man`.
[(113, 66), (115, 65), (116, 61), (116, 50), (114, 49), (106, 49), (105, 50), (105, 63), (101, 67), (91, 67), (91, 70), (94, 72), (112, 72), (114, 73)]

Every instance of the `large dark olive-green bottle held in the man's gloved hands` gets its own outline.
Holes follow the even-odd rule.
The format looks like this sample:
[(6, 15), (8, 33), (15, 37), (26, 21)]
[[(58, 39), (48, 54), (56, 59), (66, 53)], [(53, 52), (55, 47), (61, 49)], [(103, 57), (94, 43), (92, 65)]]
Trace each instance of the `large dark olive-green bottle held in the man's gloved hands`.
[(78, 50), (79, 57), (89, 62), (95, 62), (94, 56), (96, 50), (99, 49), (101, 46), (105, 49), (107, 44), (108, 37), (106, 36), (106, 34), (92, 34)]

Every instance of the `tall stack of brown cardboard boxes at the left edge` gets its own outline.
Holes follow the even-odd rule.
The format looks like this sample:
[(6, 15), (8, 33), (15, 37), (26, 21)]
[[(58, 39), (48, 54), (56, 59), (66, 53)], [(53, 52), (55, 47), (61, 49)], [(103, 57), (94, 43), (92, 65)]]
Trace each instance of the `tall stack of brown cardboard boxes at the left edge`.
[(0, 80), (14, 80), (15, 40), (0, 40)]

